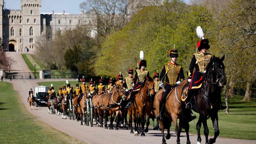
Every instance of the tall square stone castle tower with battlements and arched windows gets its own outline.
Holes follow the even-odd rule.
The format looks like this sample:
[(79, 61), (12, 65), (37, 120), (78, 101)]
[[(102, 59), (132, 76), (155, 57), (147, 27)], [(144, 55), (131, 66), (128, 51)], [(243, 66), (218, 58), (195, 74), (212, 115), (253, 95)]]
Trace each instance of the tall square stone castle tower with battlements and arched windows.
[(29, 51), (35, 49), (35, 41), (41, 35), (41, 0), (21, 0), (22, 13), (22, 47)]

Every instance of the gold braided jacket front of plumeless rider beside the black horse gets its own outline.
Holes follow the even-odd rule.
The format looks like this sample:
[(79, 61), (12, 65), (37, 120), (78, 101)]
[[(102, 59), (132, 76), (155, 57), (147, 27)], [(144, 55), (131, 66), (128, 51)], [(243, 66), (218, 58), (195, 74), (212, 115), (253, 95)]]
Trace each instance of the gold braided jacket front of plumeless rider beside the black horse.
[[(176, 84), (181, 68), (182, 68), (182, 66), (178, 65), (178, 64), (176, 64), (176, 65), (172, 65), (171, 63), (165, 64), (165, 72), (166, 72), (166, 75), (167, 75), (170, 85)], [(181, 80), (183, 80), (183, 79), (181, 79)]]

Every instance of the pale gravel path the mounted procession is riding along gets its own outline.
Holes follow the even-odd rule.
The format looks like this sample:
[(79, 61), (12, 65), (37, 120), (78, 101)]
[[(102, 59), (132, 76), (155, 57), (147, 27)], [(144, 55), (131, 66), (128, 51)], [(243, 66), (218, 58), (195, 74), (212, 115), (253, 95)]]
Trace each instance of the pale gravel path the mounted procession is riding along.
[[(21, 57), (22, 58), (22, 57)], [(18, 61), (18, 65), (23, 65), (24, 61)], [(24, 66), (15, 68), (18, 70), (23, 70)], [(19, 93), (22, 103), (26, 107), (27, 111), (36, 116), (39, 120), (45, 122), (49, 126), (52, 126), (59, 131), (67, 133), (71, 137), (78, 138), (89, 144), (160, 144), (161, 133), (160, 131), (153, 131), (150, 129), (146, 134), (146, 137), (135, 137), (130, 134), (130, 130), (109, 130), (100, 127), (90, 126), (80, 126), (80, 122), (76, 120), (63, 120), (61, 116), (48, 114), (47, 107), (33, 107), (33, 110), (29, 110), (29, 104), (27, 103), (28, 91), (30, 88), (38, 86), (37, 82), (41, 81), (58, 81), (61, 79), (45, 79), (45, 80), (35, 80), (35, 79), (13, 79), (13, 88)], [(209, 126), (211, 127), (211, 126)], [(209, 137), (211, 138), (211, 137)], [(202, 135), (202, 144), (205, 143), (204, 136)], [(195, 135), (190, 135), (190, 140), (192, 144), (197, 143), (197, 137)], [(176, 135), (174, 131), (171, 131), (171, 138), (167, 140), (167, 143), (176, 143)], [(181, 134), (181, 143), (186, 143), (186, 133)], [(230, 139), (230, 138), (217, 138), (217, 144), (256, 144), (256, 140), (240, 140), (240, 139)]]

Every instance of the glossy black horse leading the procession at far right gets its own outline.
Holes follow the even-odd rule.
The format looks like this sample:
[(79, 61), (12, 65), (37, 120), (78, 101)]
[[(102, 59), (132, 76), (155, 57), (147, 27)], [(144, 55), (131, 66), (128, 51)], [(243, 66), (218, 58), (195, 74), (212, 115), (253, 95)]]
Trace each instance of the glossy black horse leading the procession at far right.
[[(221, 100), (221, 87), (226, 85), (224, 58), (225, 55), (221, 59), (213, 55), (213, 59), (206, 67), (202, 87), (194, 97), (193, 110), (200, 114), (197, 122), (197, 144), (200, 144), (202, 140), (200, 137), (202, 124), (204, 126), (206, 144), (215, 143), (216, 138), (219, 136), (218, 111)], [(209, 140), (208, 118), (211, 118), (214, 128), (214, 137)]]

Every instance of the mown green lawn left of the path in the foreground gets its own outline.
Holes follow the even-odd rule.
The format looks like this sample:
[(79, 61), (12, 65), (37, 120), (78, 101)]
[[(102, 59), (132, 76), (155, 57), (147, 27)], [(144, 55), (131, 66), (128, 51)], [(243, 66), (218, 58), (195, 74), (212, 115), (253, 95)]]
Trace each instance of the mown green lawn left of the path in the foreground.
[(0, 82), (1, 144), (82, 144), (28, 113), (11, 83)]

